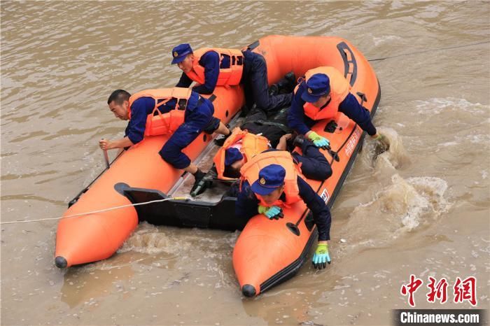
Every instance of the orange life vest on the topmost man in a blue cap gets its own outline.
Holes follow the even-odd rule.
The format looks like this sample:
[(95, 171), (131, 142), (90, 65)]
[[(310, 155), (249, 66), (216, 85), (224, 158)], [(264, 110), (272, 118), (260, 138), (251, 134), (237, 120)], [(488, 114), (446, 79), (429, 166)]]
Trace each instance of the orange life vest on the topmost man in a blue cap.
[(230, 68), (220, 68), (218, 82), (216, 86), (238, 85), (241, 80), (241, 73), (244, 70), (244, 55), (240, 50), (222, 48), (200, 48), (194, 52), (193, 70), (186, 75), (196, 83), (204, 84), (204, 67), (199, 64), (199, 60), (204, 53), (214, 51), (220, 56), (220, 65), (223, 56), (230, 57)]

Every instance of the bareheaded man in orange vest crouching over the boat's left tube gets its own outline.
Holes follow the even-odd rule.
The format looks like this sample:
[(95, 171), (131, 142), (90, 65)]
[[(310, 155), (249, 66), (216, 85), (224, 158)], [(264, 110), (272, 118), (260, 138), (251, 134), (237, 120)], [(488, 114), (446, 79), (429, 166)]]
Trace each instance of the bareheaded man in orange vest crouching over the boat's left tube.
[(182, 150), (201, 132), (230, 134), (223, 122), (213, 116), (211, 101), (188, 88), (144, 90), (133, 95), (125, 90), (115, 90), (107, 104), (116, 118), (129, 122), (123, 139), (102, 139), (99, 141), (100, 148), (126, 148), (139, 143), (146, 136), (172, 134), (159, 154), (175, 169), (192, 173), (195, 186), (205, 173), (190, 162)]

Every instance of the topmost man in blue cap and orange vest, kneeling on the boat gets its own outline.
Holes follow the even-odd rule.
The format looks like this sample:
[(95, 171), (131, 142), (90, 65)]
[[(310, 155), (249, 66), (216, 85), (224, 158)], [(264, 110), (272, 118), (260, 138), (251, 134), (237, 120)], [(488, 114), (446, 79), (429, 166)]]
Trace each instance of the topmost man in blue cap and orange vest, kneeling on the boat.
[[(172, 50), (172, 57), (172, 64), (183, 71), (176, 87), (189, 87), (195, 81), (200, 84), (193, 87), (196, 92), (211, 94), (216, 86), (243, 84), (248, 109), (255, 103), (265, 111), (276, 111), (291, 103), (290, 92), (269, 94), (265, 59), (251, 50), (201, 48), (194, 52), (188, 43), (183, 43)], [(282, 83), (294, 87), (294, 74), (288, 73), (286, 77)]]

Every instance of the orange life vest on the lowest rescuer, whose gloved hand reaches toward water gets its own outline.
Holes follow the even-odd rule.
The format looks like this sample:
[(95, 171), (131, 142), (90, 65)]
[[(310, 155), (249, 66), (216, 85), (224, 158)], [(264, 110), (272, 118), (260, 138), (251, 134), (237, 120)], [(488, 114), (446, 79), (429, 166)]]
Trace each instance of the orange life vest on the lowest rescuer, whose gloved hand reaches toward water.
[(272, 204), (266, 204), (265, 201), (262, 200), (262, 197), (256, 194), (260, 201), (260, 205), (288, 207), (291, 204), (300, 201), (301, 197), (300, 190), (297, 187), (297, 177), (300, 176), (300, 178), (304, 179), (304, 176), (300, 171), (300, 166), (295, 164), (291, 154), (283, 150), (272, 150), (252, 157), (252, 159), (246, 162), (244, 166), (241, 166), (241, 183), (243, 183), (244, 180), (247, 180), (248, 183), (252, 185), (258, 180), (259, 171), (270, 164), (279, 164), (286, 170), (286, 176), (284, 177), (284, 193), (286, 194), (286, 201), (278, 199)]

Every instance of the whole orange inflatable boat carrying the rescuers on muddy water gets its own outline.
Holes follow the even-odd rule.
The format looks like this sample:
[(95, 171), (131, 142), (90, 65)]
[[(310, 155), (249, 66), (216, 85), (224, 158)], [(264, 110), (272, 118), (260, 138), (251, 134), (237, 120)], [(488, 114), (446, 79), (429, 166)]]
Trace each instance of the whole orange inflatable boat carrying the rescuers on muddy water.
[[(335, 67), (349, 80), (351, 92), (358, 101), (374, 115), (381, 94), (377, 77), (367, 59), (348, 41), (327, 36), (266, 36), (248, 48), (265, 57), (269, 85), (289, 71), (302, 76), (318, 66)], [(228, 122), (243, 103), (243, 91), (240, 87), (216, 87), (214, 95), (216, 115)], [(332, 206), (362, 145), (364, 133), (343, 113), (319, 121), (312, 129), (330, 140), (331, 150), (323, 153), (331, 162), (333, 174), (324, 182), (308, 180), (308, 183)], [(222, 197), (216, 202), (169, 199), (167, 194), (172, 192), (182, 171), (173, 169), (158, 155), (166, 139), (149, 137), (123, 153), (86, 192), (74, 199), (76, 203), (66, 215), (130, 202), (168, 200), (61, 220), (57, 232), (57, 266), (111, 256), (130, 236), (138, 220), (148, 220), (179, 227), (243, 229), (233, 251), (233, 267), (241, 291), (247, 297), (292, 277), (307, 260), (316, 240), (316, 228), (304, 203), (300, 201), (284, 209), (281, 220), (271, 221), (256, 215), (246, 221), (230, 216), (236, 201), (233, 197)], [(185, 151), (194, 159), (208, 145), (212, 146), (203, 134)], [(141, 167), (134, 171), (134, 166)]]

